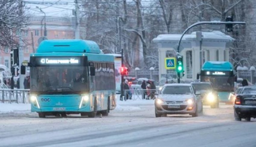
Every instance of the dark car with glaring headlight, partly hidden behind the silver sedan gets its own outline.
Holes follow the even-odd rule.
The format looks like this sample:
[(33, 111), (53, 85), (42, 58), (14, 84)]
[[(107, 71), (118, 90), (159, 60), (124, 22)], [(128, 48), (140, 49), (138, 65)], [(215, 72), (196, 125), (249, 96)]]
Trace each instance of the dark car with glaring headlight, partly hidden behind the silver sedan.
[(210, 82), (192, 82), (191, 85), (201, 94), (203, 105), (210, 105), (211, 108), (219, 108), (219, 98)]

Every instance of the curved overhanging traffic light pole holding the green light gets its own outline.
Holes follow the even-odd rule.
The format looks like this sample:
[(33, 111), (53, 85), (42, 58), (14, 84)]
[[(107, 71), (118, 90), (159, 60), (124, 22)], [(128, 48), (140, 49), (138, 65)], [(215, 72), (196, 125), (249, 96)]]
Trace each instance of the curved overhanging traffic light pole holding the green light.
[[(177, 54), (180, 53), (180, 43), (181, 43), (181, 40), (183, 38), (183, 36), (186, 34), (186, 32), (189, 31), (189, 29), (195, 27), (195, 26), (198, 26), (198, 25), (205, 25), (205, 24), (210, 24), (210, 25), (230, 25), (230, 24), (241, 24), (241, 25), (245, 25), (246, 23), (245, 22), (232, 22), (232, 21), (227, 21), (227, 22), (222, 22), (222, 21), (201, 21), (201, 22), (196, 22), (194, 24), (192, 24), (191, 26), (189, 26), (181, 35), (181, 38), (179, 40), (179, 43), (178, 43), (178, 47), (177, 47)], [(177, 72), (177, 82), (180, 83), (180, 73)]]

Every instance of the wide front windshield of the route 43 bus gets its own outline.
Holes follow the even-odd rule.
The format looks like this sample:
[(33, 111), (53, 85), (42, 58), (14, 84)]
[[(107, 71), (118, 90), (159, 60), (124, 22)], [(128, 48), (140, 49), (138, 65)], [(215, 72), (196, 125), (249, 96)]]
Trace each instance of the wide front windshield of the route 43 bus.
[(80, 93), (88, 91), (87, 67), (38, 66), (31, 67), (30, 90), (42, 93)]

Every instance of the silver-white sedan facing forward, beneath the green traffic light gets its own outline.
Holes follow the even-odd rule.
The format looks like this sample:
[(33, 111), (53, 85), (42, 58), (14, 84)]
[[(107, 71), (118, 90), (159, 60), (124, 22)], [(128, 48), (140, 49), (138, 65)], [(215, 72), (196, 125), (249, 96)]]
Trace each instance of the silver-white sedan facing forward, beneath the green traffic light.
[(196, 96), (191, 84), (165, 84), (155, 99), (156, 117), (167, 114), (189, 114), (197, 117), (202, 112), (201, 97)]

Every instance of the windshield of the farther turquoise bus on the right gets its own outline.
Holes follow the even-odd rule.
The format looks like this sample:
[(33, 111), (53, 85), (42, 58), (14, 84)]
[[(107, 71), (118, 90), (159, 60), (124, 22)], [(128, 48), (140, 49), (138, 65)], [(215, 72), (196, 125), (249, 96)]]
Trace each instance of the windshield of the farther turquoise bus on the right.
[(201, 76), (201, 82), (211, 82), (217, 91), (233, 91), (234, 89), (232, 76)]

